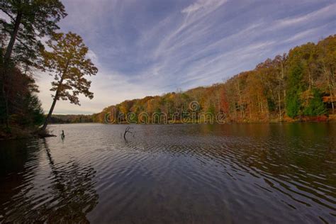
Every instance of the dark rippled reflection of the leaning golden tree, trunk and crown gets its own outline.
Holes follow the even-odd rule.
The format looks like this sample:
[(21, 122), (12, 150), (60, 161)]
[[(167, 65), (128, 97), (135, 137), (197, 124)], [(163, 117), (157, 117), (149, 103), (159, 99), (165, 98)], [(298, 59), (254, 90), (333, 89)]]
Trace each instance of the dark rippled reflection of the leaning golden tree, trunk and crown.
[(52, 206), (43, 220), (51, 223), (71, 220), (75, 223), (86, 223), (86, 213), (94, 209), (98, 203), (98, 194), (94, 189), (94, 178), (96, 171), (92, 167), (79, 167), (74, 162), (66, 169), (57, 169), (52, 159), (47, 142), (43, 141), (52, 174), (55, 178), (53, 194), (58, 198), (57, 204)]

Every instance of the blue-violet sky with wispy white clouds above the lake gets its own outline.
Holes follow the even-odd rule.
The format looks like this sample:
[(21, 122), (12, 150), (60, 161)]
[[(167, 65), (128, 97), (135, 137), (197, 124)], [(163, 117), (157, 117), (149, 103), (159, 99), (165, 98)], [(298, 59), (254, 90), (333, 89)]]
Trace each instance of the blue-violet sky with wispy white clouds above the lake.
[[(82, 36), (99, 68), (94, 99), (57, 101), (90, 114), (126, 99), (208, 86), (292, 47), (336, 34), (335, 0), (63, 0), (60, 31)], [(38, 74), (47, 112), (52, 77)]]

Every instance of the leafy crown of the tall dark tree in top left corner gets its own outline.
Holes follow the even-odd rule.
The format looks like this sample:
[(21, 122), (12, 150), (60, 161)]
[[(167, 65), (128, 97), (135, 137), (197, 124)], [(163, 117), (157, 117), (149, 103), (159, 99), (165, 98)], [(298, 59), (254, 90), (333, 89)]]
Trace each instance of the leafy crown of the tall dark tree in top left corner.
[(18, 40), (18, 52), (38, 53), (40, 38), (51, 35), (59, 27), (57, 22), (67, 16), (65, 6), (59, 0), (3, 0), (0, 9), (9, 21), (0, 19), (1, 30), (9, 35), (4, 62), (8, 63)]

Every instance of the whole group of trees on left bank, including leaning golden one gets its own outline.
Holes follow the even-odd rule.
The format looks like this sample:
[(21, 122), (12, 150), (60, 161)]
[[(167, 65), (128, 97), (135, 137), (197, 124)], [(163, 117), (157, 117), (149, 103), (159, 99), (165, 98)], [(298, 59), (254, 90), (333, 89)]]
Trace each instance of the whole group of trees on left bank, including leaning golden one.
[[(79, 35), (57, 33), (67, 16), (60, 0), (2, 0), (0, 10), (0, 138), (23, 129), (45, 131), (56, 101), (79, 105), (79, 94), (93, 98), (85, 76), (98, 69)], [(55, 79), (46, 117), (36, 95), (38, 71)]]

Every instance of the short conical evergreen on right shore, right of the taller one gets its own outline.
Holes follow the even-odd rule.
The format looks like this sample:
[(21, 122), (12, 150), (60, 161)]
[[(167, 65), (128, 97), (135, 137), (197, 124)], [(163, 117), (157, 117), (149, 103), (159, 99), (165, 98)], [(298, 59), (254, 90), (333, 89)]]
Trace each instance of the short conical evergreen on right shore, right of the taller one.
[(303, 114), (306, 116), (320, 116), (325, 113), (327, 113), (327, 109), (322, 101), (321, 93), (318, 89), (313, 89), (313, 98), (310, 99), (308, 106), (304, 108)]

